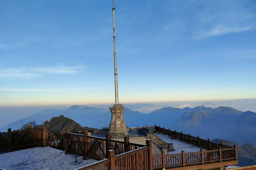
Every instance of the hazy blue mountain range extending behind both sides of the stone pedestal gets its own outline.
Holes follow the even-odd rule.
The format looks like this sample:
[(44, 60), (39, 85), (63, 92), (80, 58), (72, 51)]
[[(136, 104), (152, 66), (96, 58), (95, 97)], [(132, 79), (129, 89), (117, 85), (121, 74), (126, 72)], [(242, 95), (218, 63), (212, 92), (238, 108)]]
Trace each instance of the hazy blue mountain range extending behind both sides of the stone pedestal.
[[(146, 104), (145, 104), (146, 105)], [(135, 107), (135, 106), (134, 106)], [(35, 115), (23, 118), (23, 123), (32, 122), (42, 124), (50, 121), (52, 117), (63, 115), (74, 120), (81, 126), (101, 129), (109, 126), (111, 113), (107, 108), (94, 108), (86, 106), (71, 106), (59, 111), (57, 109), (47, 109)], [(132, 111), (126, 107), (124, 110), (124, 120), (129, 127), (161, 125), (172, 130), (199, 135), (201, 138), (221, 138), (234, 141), (239, 145), (252, 143), (256, 145), (256, 113), (241, 112), (231, 107), (211, 108), (197, 106), (194, 108), (185, 107), (163, 107), (148, 114)], [(19, 121), (11, 125), (13, 130), (19, 129)], [(9, 126), (0, 128), (0, 131), (7, 131)]]

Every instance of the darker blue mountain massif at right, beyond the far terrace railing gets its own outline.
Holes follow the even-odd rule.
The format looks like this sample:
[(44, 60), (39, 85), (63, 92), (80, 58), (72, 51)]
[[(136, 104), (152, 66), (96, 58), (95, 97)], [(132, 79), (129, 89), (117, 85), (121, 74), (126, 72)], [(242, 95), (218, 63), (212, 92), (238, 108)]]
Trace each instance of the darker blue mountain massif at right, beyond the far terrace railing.
[(202, 137), (228, 139), (239, 145), (256, 144), (256, 113), (243, 113), (231, 107), (183, 113), (176, 128)]

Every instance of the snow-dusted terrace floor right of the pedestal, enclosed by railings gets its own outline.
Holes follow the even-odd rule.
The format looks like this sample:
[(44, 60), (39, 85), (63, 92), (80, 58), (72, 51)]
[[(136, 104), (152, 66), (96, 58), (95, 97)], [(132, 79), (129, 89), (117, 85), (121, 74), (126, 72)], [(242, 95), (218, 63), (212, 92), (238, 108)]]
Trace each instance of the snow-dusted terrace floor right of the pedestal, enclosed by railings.
[[(168, 135), (155, 133), (159, 138), (163, 139), (166, 143), (173, 143), (173, 149), (174, 151), (167, 152), (168, 155), (172, 154), (181, 154), (181, 150), (184, 150), (185, 153), (189, 152), (199, 152), (201, 148), (198, 148), (194, 145), (189, 145), (186, 142), (182, 142), (178, 139), (171, 139)], [(204, 151), (206, 151), (204, 149)]]

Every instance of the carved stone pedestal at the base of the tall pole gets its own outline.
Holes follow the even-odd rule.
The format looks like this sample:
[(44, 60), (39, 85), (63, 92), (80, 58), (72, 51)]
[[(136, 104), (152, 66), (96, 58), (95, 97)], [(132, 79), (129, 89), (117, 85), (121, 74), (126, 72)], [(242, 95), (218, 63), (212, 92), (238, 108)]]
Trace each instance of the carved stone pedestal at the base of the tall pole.
[(110, 107), (111, 121), (109, 124), (109, 134), (111, 135), (127, 135), (129, 132), (126, 129), (124, 122), (124, 107), (121, 104), (115, 104)]

